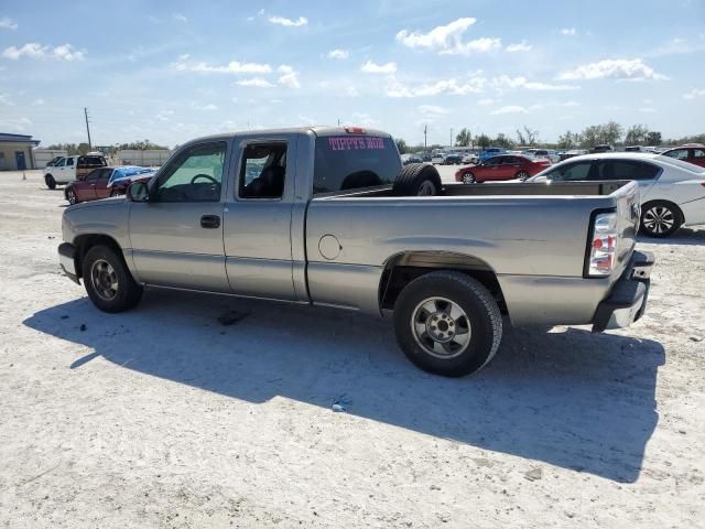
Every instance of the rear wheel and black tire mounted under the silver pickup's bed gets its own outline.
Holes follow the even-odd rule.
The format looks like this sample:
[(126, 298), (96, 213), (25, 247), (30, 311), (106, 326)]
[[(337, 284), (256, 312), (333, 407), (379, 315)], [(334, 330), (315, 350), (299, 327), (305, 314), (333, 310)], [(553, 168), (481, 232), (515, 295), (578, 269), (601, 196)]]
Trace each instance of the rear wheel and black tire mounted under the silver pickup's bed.
[[(451, 304), (447, 309), (438, 309), (436, 304), (436, 312), (426, 311), (424, 306), (433, 299), (443, 299)], [(451, 311), (453, 304), (464, 314), (456, 320), (449, 319), (455, 326), (446, 324), (445, 331), (451, 333), (448, 328), (455, 328), (457, 338), (465, 335), (464, 328), (469, 328), (469, 336), (464, 348), (453, 353), (445, 352), (446, 346), (452, 349), (457, 345), (448, 334), (449, 342), (440, 344), (444, 352), (433, 353), (431, 347), (435, 349), (438, 344), (430, 335), (433, 332), (430, 328), (436, 328), (432, 320), (434, 315), (445, 317), (444, 312)], [(427, 317), (420, 323), (419, 316), (424, 312), (429, 312)], [(449, 316), (449, 312), (446, 315)], [(425, 337), (417, 336), (416, 325), (426, 325)], [(437, 325), (440, 330), (441, 323)], [(438, 271), (421, 276), (402, 290), (394, 305), (394, 332), (406, 357), (424, 371), (463, 377), (479, 370), (495, 356), (502, 336), (502, 319), (497, 302), (481, 283), (459, 272)]]

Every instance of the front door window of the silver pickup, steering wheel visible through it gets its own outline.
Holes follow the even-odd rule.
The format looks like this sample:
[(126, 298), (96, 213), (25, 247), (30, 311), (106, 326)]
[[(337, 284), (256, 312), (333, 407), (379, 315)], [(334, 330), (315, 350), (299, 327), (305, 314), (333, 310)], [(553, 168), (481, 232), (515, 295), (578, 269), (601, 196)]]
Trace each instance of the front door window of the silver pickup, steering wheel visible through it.
[(223, 185), (226, 143), (202, 143), (182, 151), (160, 174), (156, 202), (218, 202)]

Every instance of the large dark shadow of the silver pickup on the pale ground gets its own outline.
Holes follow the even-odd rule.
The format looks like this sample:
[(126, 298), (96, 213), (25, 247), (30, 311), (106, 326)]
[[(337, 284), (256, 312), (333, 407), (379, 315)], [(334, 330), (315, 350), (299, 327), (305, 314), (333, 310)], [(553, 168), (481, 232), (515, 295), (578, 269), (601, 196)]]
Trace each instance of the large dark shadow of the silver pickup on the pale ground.
[(639, 476), (664, 363), (651, 341), (508, 328), (487, 368), (445, 379), (410, 365), (388, 322), (158, 290), (129, 313), (102, 314), (84, 298), (24, 324), (93, 349), (70, 369), (102, 356), (249, 402), (282, 396), (328, 413), (340, 401), (366, 419), (620, 483)]

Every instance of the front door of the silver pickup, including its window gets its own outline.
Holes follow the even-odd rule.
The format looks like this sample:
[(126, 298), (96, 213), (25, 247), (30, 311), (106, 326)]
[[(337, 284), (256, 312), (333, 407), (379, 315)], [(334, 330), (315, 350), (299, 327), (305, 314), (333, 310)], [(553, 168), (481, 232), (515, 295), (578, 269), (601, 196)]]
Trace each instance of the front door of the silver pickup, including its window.
[(130, 241), (140, 281), (229, 292), (223, 249), (226, 141), (183, 149), (130, 205)]

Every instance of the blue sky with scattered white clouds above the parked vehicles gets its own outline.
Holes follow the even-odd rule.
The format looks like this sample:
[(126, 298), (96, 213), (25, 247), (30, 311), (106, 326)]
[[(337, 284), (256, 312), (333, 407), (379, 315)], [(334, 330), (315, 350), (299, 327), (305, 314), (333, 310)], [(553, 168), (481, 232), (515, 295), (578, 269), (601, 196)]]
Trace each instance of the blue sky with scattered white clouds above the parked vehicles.
[(343, 123), (409, 142), (705, 131), (705, 1), (3, 2), (0, 131), (46, 145)]

